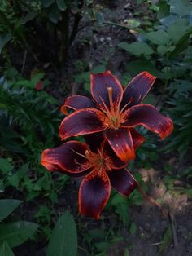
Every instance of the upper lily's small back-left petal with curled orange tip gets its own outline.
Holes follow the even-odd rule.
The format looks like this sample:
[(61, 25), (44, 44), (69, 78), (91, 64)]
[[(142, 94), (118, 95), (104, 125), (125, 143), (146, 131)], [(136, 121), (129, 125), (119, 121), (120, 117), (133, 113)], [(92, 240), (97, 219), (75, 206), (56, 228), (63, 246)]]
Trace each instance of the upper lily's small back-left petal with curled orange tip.
[(96, 103), (93, 99), (81, 95), (72, 95), (65, 99), (65, 103), (61, 107), (61, 112), (66, 114), (67, 108), (72, 108), (74, 110), (82, 108), (95, 108)]

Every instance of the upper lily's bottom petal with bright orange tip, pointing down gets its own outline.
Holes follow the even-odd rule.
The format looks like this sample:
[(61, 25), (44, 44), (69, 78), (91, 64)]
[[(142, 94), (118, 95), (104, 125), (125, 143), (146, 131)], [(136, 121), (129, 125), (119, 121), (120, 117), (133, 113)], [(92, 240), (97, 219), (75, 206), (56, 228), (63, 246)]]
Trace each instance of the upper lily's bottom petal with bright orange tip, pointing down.
[(128, 128), (108, 129), (106, 139), (120, 160), (129, 161), (135, 158), (133, 140)]

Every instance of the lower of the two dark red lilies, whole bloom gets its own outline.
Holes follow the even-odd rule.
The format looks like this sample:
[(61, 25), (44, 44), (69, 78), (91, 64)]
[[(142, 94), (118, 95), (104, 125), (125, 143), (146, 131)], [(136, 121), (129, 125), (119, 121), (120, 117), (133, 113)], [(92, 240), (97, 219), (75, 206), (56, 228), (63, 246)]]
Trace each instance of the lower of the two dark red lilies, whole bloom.
[[(139, 143), (135, 141), (135, 148)], [(44, 150), (41, 164), (51, 172), (85, 176), (79, 190), (79, 211), (96, 219), (107, 204), (111, 186), (123, 196), (137, 188), (136, 179), (125, 169), (127, 163), (116, 156), (107, 141), (96, 152), (90, 151), (86, 143), (68, 141), (58, 148)]]

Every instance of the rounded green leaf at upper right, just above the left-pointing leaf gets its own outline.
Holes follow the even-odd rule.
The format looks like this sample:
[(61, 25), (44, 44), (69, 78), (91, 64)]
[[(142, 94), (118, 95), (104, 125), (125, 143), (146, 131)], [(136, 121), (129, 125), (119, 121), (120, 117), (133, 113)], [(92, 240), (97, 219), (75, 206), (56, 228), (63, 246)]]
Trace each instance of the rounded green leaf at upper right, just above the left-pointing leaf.
[(164, 46), (168, 42), (168, 34), (164, 30), (145, 33), (145, 38), (159, 46)]

